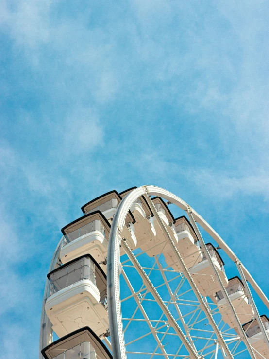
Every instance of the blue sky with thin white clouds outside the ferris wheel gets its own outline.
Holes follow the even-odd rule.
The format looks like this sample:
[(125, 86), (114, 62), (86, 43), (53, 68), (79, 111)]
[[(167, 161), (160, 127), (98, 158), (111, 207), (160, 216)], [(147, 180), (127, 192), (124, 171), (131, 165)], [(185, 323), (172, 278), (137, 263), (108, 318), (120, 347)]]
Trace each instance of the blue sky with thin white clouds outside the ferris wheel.
[(34, 359), (60, 229), (153, 184), (268, 290), (267, 1), (0, 2), (0, 358)]

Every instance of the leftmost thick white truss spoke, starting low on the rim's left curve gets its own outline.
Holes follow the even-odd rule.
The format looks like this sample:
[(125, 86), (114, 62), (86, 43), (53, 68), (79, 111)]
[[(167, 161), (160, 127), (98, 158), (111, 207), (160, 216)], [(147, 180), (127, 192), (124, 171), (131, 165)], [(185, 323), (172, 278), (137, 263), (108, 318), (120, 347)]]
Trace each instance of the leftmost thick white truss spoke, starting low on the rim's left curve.
[(122, 241), (121, 244), (122, 244), (122, 248), (124, 249), (125, 253), (130, 258), (130, 261), (133, 263), (134, 268), (137, 270), (138, 274), (142, 278), (145, 287), (147, 287), (147, 289), (151, 292), (151, 294), (152, 294), (153, 298), (155, 299), (156, 303), (160, 306), (160, 308), (162, 309), (164, 315), (167, 317), (167, 320), (168, 320), (169, 324), (175, 330), (175, 332), (177, 333), (177, 335), (179, 336), (179, 338), (183, 342), (185, 348), (187, 349), (187, 351), (188, 351), (188, 353), (190, 355), (190, 358), (191, 359), (199, 359), (198, 353), (190, 345), (189, 341), (185, 337), (185, 334), (183, 333), (181, 328), (178, 326), (178, 323), (175, 321), (175, 319), (172, 316), (171, 312), (169, 311), (168, 307), (164, 304), (164, 302), (163, 302), (162, 298), (160, 297), (159, 293), (157, 292), (157, 290), (155, 289), (155, 287), (151, 283), (149, 277), (147, 276), (147, 274), (145, 273), (145, 271), (142, 269), (141, 265), (139, 264), (139, 262), (135, 258), (133, 252), (131, 251), (131, 249), (128, 246), (128, 244), (126, 243), (126, 241)]

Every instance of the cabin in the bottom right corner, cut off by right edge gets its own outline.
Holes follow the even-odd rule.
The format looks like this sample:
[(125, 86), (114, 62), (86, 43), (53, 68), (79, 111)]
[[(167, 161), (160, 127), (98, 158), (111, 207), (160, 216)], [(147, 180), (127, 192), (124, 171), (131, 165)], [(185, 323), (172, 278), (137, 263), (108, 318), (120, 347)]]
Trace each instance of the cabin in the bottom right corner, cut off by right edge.
[[(265, 327), (266, 334), (269, 337), (269, 319), (266, 315), (261, 315), (261, 320)], [(255, 319), (244, 324), (243, 329), (246, 332), (250, 344), (261, 354), (258, 355), (258, 353), (255, 352), (255, 356), (260, 359), (263, 359), (263, 357), (269, 359), (268, 346), (264, 340), (258, 321)]]

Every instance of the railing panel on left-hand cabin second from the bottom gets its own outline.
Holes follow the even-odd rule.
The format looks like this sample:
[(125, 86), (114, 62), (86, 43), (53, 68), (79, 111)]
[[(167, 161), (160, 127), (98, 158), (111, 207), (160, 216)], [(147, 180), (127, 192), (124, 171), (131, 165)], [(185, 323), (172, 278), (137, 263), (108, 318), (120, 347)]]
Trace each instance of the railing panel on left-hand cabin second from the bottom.
[(49, 296), (83, 279), (89, 279), (96, 285), (95, 265), (89, 257), (83, 257), (64, 268), (51, 273), (49, 280)]

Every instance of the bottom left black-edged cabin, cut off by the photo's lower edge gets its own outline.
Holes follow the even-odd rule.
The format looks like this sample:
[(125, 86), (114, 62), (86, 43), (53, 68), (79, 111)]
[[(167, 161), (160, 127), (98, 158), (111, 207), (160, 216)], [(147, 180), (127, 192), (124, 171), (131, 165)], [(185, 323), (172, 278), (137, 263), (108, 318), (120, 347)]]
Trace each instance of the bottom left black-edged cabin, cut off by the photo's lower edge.
[(106, 346), (87, 326), (54, 341), (41, 353), (45, 359), (112, 359)]

